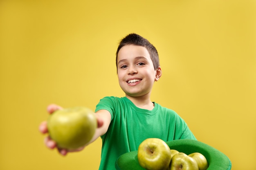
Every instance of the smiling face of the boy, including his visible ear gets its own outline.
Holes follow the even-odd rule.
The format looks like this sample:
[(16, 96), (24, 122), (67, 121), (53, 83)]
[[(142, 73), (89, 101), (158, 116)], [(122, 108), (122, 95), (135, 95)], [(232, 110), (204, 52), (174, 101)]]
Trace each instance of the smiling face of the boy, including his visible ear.
[(117, 55), (117, 76), (126, 96), (144, 96), (150, 94), (154, 82), (160, 78), (161, 68), (154, 69), (145, 47), (126, 45)]

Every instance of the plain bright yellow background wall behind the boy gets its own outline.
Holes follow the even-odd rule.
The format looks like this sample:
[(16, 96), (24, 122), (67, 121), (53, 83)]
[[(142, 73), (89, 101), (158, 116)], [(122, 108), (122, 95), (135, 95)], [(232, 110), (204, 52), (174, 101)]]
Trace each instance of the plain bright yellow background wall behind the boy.
[(152, 101), (175, 110), (232, 170), (256, 169), (255, 0), (1, 0), (0, 169), (96, 170), (101, 140), (62, 157), (38, 131), (46, 107), (124, 96), (118, 42), (129, 33), (159, 52)]

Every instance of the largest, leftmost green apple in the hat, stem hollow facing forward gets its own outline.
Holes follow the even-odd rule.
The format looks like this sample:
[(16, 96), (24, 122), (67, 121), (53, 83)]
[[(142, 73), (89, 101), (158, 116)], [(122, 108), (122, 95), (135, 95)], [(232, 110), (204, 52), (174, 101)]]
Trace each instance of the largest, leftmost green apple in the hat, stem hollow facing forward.
[(169, 170), (171, 150), (162, 139), (145, 139), (138, 148), (139, 165), (146, 170)]

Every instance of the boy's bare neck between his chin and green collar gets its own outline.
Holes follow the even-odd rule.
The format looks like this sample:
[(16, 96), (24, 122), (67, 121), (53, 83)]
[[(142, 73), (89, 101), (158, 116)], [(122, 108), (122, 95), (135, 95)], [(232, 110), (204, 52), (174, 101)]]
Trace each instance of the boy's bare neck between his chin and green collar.
[(132, 103), (141, 108), (141, 109), (146, 109), (146, 110), (153, 110), (154, 108), (154, 103), (151, 102), (150, 100), (150, 95), (144, 95), (144, 96), (128, 96), (126, 94), (126, 97), (132, 101)]

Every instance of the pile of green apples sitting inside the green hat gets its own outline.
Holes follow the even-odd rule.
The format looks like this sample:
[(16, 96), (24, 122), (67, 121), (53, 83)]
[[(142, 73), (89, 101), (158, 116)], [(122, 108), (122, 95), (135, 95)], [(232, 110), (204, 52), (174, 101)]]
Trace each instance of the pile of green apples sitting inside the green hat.
[(209, 166), (203, 154), (189, 155), (170, 149), (162, 139), (148, 138), (138, 149), (139, 165), (146, 170), (206, 170)]

